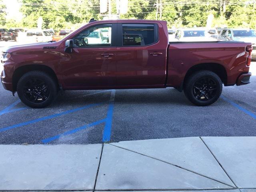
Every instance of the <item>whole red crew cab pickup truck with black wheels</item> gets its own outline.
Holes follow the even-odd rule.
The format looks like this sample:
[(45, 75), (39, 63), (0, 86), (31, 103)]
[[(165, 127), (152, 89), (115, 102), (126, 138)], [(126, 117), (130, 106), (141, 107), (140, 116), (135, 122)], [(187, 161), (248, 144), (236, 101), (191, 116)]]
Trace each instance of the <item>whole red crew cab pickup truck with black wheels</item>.
[(1, 79), (34, 108), (48, 106), (58, 90), (166, 87), (207, 106), (222, 84), (250, 82), (251, 52), (244, 42), (169, 42), (165, 21), (91, 20), (57, 42), (3, 50)]

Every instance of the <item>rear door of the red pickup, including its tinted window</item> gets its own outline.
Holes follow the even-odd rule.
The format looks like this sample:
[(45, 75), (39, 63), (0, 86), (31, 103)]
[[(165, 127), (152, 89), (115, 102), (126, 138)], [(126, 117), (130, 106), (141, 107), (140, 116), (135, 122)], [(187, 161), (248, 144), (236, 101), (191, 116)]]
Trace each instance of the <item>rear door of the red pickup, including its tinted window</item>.
[(157, 22), (120, 22), (116, 50), (118, 86), (163, 86), (166, 77), (167, 27), (166, 34), (162, 34), (163, 26)]

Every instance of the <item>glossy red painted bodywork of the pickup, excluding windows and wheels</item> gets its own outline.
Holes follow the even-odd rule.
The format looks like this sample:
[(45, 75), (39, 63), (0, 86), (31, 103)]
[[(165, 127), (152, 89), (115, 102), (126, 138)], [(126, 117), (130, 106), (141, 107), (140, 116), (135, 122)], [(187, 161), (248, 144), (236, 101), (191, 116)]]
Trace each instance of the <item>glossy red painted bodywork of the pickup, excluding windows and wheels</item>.
[[(64, 51), (66, 40), (91, 26), (122, 23), (157, 24), (158, 42), (148, 46), (88, 47), (73, 48), (72, 53)], [(4, 50), (11, 53), (11, 58), (4, 62), (1, 78), (4, 87), (15, 92), (17, 76), (24, 71), (44, 66), (44, 69), (56, 75), (58, 83), (66, 90), (178, 88), (182, 87), (192, 67), (208, 64), (224, 68), (224, 84), (234, 85), (241, 74), (248, 74), (248, 52), (245, 47), (250, 45), (243, 42), (169, 44), (165, 21), (96, 21), (58, 42), (12, 46)]]

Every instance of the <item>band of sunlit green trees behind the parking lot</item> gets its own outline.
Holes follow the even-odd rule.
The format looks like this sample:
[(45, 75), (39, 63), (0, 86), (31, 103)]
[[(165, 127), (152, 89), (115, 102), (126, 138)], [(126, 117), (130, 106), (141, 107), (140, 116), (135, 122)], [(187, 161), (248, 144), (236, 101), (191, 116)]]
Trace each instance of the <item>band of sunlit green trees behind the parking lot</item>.
[[(90, 18), (103, 19), (100, 0), (20, 0), (24, 15), (21, 23), (6, 21), (6, 12), (0, 11), (0, 25), (36, 28), (39, 17), (43, 28), (75, 29)], [(111, 14), (117, 14), (116, 0), (111, 1)], [(122, 4), (121, 4), (122, 6)], [(4, 9), (0, 0), (0, 10)], [(128, 12), (121, 19), (166, 20), (168, 28), (204, 27), (209, 14), (214, 15), (212, 27), (256, 28), (256, 0), (128, 0)]]

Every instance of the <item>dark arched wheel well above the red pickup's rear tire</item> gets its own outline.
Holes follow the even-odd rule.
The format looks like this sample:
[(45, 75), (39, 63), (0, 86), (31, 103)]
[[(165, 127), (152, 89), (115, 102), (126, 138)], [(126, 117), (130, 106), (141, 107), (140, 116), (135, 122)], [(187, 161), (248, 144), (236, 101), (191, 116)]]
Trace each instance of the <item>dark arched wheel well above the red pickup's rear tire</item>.
[(186, 83), (186, 80), (188, 79), (188, 77), (193, 74), (196, 71), (199, 70), (209, 70), (212, 71), (214, 73), (216, 73), (221, 81), (224, 83), (224, 85), (227, 84), (227, 72), (226, 69), (217, 63), (202, 63), (202, 64), (197, 64), (192, 66), (186, 73), (186, 76), (184, 78), (184, 84)]

